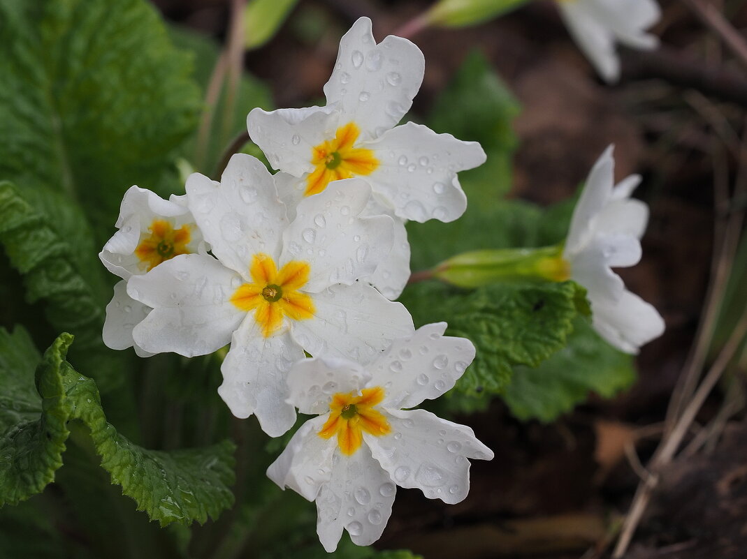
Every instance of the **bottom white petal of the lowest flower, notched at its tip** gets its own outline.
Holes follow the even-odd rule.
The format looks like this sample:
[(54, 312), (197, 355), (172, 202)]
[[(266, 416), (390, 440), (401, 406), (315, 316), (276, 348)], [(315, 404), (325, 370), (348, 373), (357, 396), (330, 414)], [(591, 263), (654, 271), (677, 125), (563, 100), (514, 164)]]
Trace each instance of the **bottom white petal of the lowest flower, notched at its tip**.
[(337, 549), (343, 528), (358, 546), (378, 540), (391, 516), (396, 492), (365, 444), (352, 456), (335, 452), (332, 474), (316, 499), (317, 534), (324, 549)]

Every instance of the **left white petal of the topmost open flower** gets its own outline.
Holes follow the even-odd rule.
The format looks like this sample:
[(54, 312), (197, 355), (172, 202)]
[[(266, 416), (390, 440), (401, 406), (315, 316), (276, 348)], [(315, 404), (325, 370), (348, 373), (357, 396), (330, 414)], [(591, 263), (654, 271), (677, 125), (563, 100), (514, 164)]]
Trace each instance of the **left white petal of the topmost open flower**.
[(252, 109), (247, 128), (252, 142), (267, 155), (273, 169), (300, 177), (314, 170), (314, 147), (335, 137), (340, 114), (335, 105), (270, 111)]

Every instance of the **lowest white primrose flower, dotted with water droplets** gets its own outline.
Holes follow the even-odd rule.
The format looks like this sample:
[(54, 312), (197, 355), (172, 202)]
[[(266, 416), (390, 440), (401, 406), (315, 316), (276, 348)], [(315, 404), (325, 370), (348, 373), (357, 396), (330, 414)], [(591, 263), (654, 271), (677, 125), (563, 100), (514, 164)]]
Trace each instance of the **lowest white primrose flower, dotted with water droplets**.
[(492, 459), (471, 428), (401, 409), (450, 390), (474, 359), (472, 343), (444, 337), (445, 329), (445, 322), (425, 325), (368, 366), (323, 357), (288, 373), (289, 401), (318, 417), (301, 426), (267, 475), (317, 502), (317, 534), (328, 552), (343, 529), (359, 546), (378, 540), (397, 485), (458, 503), (469, 491), (468, 458)]

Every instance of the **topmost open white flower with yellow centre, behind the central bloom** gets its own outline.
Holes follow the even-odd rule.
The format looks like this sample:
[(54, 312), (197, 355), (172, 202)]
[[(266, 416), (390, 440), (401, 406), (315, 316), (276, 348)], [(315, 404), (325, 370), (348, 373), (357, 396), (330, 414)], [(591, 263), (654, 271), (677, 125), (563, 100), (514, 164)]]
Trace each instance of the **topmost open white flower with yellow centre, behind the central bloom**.
[[(450, 222), (467, 199), (456, 173), (485, 162), (479, 143), (408, 122), (424, 74), (423, 53), (409, 40), (386, 37), (376, 44), (371, 19), (362, 17), (340, 41), (337, 62), (324, 86), (326, 107), (254, 109), (249, 136), (270, 164), (293, 178), (279, 185), (289, 207), (323, 192), (331, 181), (363, 177), (376, 211), (397, 216), (390, 261), (368, 278), (388, 297), (399, 296), (409, 277), (404, 220)], [(394, 274), (392, 273), (394, 272)]]

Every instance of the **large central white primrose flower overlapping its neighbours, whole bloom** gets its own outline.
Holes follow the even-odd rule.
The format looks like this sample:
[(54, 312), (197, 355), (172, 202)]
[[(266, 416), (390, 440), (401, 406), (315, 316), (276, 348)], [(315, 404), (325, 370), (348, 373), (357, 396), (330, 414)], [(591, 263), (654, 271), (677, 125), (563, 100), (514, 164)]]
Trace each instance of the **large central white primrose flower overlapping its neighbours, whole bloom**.
[(285, 374), (304, 350), (368, 362), (414, 330), (405, 307), (356, 281), (393, 237), (390, 218), (359, 216), (365, 182), (304, 200), (290, 224), (255, 157), (236, 154), (220, 184), (195, 173), (186, 188), (215, 257), (187, 254), (130, 278), (128, 294), (153, 308), (133, 337), (148, 352), (187, 357), (231, 343), (218, 392), (235, 416), (254, 413), (276, 437), (295, 421)]

